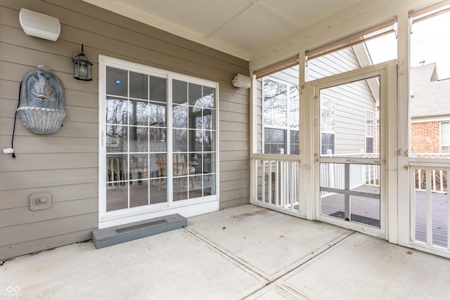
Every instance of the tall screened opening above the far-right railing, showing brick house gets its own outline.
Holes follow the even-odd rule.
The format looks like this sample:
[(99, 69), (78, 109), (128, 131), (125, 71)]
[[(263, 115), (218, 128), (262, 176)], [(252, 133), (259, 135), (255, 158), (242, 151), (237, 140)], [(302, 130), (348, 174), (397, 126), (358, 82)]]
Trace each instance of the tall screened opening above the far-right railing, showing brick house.
[(449, 8), (410, 13), (410, 155), (415, 158), (450, 158), (450, 60), (440, 30), (450, 27)]

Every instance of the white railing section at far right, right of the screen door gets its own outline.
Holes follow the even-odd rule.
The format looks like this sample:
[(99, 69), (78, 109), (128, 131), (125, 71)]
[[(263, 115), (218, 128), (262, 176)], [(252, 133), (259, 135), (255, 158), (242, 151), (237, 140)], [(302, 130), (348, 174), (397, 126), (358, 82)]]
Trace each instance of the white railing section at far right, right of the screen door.
[[(419, 247), (450, 254), (450, 201), (446, 193), (449, 167), (410, 163), (411, 240)], [(436, 193), (440, 191), (441, 193)]]

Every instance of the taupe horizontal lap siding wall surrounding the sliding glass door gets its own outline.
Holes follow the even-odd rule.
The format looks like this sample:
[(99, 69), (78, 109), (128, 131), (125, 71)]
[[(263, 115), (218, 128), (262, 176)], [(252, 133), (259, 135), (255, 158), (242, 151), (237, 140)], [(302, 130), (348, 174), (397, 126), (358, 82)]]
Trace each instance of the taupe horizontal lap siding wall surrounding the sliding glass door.
[[(20, 8), (60, 20), (58, 41), (27, 36)], [(91, 238), (98, 226), (98, 54), (219, 82), (220, 208), (249, 202), (248, 89), (231, 86), (248, 62), (79, 0), (0, 0), (0, 144), (11, 146), (23, 76), (44, 64), (63, 82), (68, 117), (53, 135), (29, 133), (18, 117), (14, 150), (0, 155), (0, 259)], [(94, 81), (72, 79), (81, 50)], [(31, 211), (32, 193), (52, 195)]]

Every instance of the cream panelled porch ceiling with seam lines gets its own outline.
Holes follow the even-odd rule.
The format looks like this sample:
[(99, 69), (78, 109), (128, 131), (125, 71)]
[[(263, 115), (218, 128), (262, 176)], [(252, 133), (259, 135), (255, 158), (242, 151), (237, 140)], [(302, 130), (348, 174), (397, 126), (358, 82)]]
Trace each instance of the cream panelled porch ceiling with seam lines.
[(83, 0), (250, 60), (252, 53), (361, 0)]

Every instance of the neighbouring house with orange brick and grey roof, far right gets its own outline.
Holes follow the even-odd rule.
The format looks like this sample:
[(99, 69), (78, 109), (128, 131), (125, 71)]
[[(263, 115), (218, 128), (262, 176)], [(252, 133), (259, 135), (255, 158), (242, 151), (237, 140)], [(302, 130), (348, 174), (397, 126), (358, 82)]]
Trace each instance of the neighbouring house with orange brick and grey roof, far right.
[(450, 79), (437, 65), (411, 68), (411, 155), (450, 153)]

